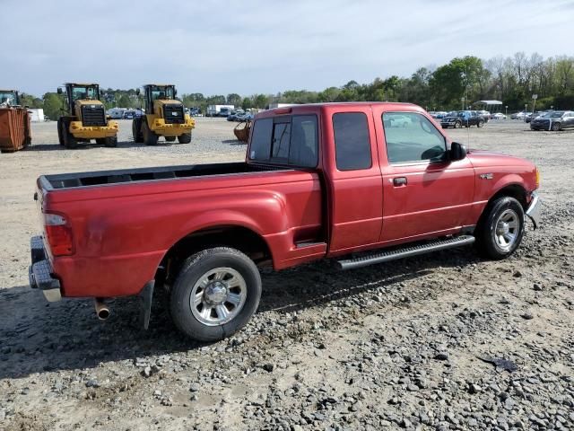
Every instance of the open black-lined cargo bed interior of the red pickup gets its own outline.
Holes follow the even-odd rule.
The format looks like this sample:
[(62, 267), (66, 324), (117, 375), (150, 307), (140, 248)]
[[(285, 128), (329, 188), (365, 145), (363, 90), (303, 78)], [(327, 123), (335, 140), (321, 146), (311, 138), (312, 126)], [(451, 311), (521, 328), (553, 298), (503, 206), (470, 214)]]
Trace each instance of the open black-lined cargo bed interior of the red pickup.
[(208, 163), (153, 168), (124, 169), (100, 172), (74, 172), (40, 177), (44, 189), (74, 189), (77, 187), (101, 186), (148, 180), (170, 180), (207, 175), (229, 175), (234, 173), (285, 171), (289, 168), (239, 163)]

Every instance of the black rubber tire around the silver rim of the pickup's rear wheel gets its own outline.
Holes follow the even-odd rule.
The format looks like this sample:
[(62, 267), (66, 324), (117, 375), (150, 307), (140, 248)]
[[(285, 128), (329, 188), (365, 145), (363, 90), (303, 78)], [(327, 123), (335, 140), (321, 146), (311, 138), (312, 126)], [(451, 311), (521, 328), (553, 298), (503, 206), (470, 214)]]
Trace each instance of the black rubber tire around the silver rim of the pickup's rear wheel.
[[(245, 292), (242, 306), (233, 315), (233, 309), (230, 312), (230, 320), (222, 324), (208, 325), (199, 319), (204, 311), (205, 293), (208, 286), (199, 286), (199, 281), (206, 277), (210, 271), (217, 269), (233, 270), (239, 274), (243, 287), (241, 292)], [(225, 278), (223, 278), (224, 280)], [(213, 279), (212, 285), (217, 281)], [(205, 285), (204, 285), (205, 286)], [(229, 288), (229, 287), (228, 287)], [(197, 292), (199, 293), (197, 294)], [(201, 295), (201, 292), (204, 295)], [(191, 304), (191, 295), (196, 292), (202, 299), (198, 305)], [(241, 295), (239, 295), (241, 296)], [(249, 259), (241, 251), (230, 249), (228, 247), (216, 247), (200, 251), (189, 257), (183, 264), (179, 275), (172, 286), (170, 294), (170, 312), (171, 318), (178, 330), (192, 339), (199, 341), (217, 341), (229, 337), (247, 324), (251, 316), (257, 310), (259, 299), (261, 298), (261, 277), (253, 260)], [(221, 304), (220, 304), (221, 305)], [(193, 307), (195, 312), (192, 311)], [(219, 305), (217, 305), (219, 306)], [(223, 304), (225, 306), (225, 304)], [(213, 310), (216, 307), (207, 307), (208, 319), (219, 319), (219, 312)], [(200, 310), (201, 309), (201, 310)]]

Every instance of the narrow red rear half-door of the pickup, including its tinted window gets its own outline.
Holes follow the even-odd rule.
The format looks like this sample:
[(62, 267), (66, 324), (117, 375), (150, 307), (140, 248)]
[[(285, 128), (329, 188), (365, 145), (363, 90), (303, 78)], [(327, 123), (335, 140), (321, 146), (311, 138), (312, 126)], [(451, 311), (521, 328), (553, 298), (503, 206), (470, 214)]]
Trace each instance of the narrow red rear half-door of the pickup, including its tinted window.
[(329, 253), (378, 242), (382, 180), (370, 107), (329, 108), (323, 116)]

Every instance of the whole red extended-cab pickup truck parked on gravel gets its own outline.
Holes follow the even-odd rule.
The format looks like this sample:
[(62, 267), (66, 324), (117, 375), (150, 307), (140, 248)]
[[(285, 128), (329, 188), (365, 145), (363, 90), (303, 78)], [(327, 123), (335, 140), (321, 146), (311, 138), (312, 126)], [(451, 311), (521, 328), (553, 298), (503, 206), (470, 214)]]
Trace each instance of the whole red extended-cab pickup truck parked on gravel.
[(141, 295), (154, 288), (189, 337), (245, 325), (258, 267), (335, 259), (343, 268), (474, 243), (512, 254), (525, 216), (539, 224), (533, 163), (466, 151), (420, 107), (327, 103), (257, 114), (245, 163), (40, 176), (43, 234), (30, 286), (48, 301)]

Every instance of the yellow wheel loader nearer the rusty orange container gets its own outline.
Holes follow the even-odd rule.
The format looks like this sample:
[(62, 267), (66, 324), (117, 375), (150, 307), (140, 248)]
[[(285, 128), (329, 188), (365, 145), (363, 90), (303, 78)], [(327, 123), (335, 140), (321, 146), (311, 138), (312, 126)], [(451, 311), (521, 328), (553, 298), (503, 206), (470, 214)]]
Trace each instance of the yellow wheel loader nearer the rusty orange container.
[[(100, 101), (100, 85), (66, 83), (66, 114), (57, 120), (60, 145), (76, 148), (79, 142), (117, 146), (117, 121), (106, 117), (106, 107)], [(57, 89), (62, 94), (62, 88)]]

